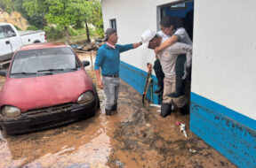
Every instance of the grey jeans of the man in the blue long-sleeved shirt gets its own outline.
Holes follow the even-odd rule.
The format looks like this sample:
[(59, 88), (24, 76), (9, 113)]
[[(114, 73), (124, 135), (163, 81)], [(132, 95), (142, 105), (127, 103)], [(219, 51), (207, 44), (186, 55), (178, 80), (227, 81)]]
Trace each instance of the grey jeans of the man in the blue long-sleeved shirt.
[(120, 89), (120, 78), (112, 78), (103, 76), (104, 93), (107, 97), (105, 109), (111, 110), (113, 105), (117, 104), (119, 89)]

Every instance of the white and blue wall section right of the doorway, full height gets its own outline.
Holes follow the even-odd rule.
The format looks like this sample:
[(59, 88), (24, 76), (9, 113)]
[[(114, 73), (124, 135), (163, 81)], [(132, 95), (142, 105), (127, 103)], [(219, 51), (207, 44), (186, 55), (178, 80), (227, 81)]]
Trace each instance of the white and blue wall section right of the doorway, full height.
[(256, 1), (195, 2), (190, 129), (256, 167)]

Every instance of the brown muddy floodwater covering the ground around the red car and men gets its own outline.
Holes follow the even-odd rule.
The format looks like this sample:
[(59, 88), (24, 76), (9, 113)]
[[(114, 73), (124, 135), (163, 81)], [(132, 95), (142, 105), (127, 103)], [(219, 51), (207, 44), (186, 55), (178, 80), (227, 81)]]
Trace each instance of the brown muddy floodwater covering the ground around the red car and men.
[[(93, 63), (95, 52), (79, 56)], [(86, 67), (96, 83), (92, 69)], [(236, 167), (189, 131), (189, 115), (174, 111), (161, 118), (158, 107), (143, 105), (141, 95), (122, 81), (117, 112), (109, 117), (103, 91), (98, 93), (100, 110), (92, 118), (18, 136), (0, 131), (0, 167)], [(187, 138), (177, 121), (186, 125)]]

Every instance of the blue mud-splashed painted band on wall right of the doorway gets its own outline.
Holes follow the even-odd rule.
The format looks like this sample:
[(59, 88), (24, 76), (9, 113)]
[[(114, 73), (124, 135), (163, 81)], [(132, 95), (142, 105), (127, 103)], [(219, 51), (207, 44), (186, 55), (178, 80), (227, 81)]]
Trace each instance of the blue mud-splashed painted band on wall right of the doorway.
[(191, 93), (190, 129), (239, 167), (256, 167), (256, 121)]

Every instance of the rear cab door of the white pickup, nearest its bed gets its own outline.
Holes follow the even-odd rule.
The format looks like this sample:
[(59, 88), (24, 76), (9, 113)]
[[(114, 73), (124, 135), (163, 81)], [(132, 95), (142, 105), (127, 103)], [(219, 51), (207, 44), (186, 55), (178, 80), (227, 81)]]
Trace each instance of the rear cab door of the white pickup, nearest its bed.
[(15, 31), (10, 25), (4, 25), (2, 26), (2, 29), (4, 31), (5, 36), (7, 36), (10, 40), (12, 53), (15, 52), (15, 50), (19, 49), (20, 46), (22, 45), (20, 35), (15, 33)]

